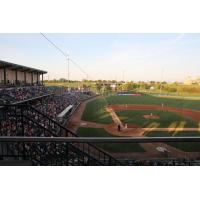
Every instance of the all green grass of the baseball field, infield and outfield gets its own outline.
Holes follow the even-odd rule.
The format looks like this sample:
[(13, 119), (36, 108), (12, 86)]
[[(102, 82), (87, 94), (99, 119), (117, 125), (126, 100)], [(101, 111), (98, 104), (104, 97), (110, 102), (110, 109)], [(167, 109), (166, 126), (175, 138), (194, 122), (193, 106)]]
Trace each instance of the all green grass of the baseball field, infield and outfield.
[[(198, 100), (180, 100), (180, 99), (169, 99), (169, 98), (159, 98), (154, 96), (107, 96), (105, 98), (96, 99), (89, 102), (83, 113), (82, 120), (92, 121), (103, 124), (112, 123), (112, 118), (105, 110), (105, 106), (108, 104), (151, 104), (151, 105), (161, 105), (164, 103), (167, 106), (178, 107), (178, 108), (190, 108), (195, 110), (200, 110), (200, 101)], [(182, 117), (176, 113), (172, 112), (162, 112), (154, 110), (140, 110), (140, 111), (119, 111), (117, 115), (120, 117), (124, 123), (135, 123), (142, 127), (150, 126), (152, 120), (144, 119), (142, 116), (144, 114), (158, 114), (160, 119), (153, 120), (159, 124), (159, 127), (174, 127), (184, 122), (184, 127), (197, 127), (197, 122), (193, 121), (189, 117)], [(182, 123), (183, 125), (183, 123)], [(78, 133), (85, 137), (112, 137), (104, 129), (86, 129), (79, 128)], [(200, 136), (199, 132), (148, 132), (145, 134), (147, 137), (173, 137), (173, 136)], [(200, 152), (199, 143), (169, 143), (169, 145), (174, 146), (186, 152)], [(104, 144), (100, 145), (103, 149), (109, 152), (142, 152), (144, 151), (140, 145), (133, 144)]]

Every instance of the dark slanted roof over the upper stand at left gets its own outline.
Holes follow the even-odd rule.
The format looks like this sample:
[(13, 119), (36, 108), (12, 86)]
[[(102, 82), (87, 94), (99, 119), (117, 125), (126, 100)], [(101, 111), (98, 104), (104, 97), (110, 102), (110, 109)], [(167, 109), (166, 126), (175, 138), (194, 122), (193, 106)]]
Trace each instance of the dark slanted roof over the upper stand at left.
[(39, 74), (46, 74), (47, 71), (43, 71), (40, 69), (35, 69), (32, 67), (26, 67), (23, 65), (18, 65), (18, 64), (14, 64), (14, 63), (10, 63), (10, 62), (6, 62), (3, 60), (0, 60), (0, 69), (1, 68), (9, 68), (11, 70), (18, 70), (18, 71), (22, 71), (22, 72), (33, 72), (33, 73), (39, 73)]

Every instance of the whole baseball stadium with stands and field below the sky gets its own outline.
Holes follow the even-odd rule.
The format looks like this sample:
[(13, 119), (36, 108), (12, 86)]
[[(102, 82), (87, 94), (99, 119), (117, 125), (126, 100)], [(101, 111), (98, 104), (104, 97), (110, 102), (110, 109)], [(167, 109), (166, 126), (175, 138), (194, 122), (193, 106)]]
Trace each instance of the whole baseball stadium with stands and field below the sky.
[(73, 81), (54, 47), (66, 80), (0, 61), (0, 165), (200, 165), (198, 79)]

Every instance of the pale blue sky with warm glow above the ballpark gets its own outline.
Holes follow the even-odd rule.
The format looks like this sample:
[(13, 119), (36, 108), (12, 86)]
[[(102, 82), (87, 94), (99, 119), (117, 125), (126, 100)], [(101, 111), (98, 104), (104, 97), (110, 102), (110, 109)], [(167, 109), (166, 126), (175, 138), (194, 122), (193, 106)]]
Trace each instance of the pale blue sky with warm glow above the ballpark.
[[(200, 34), (45, 33), (89, 79), (184, 81), (200, 76)], [(0, 60), (48, 71), (45, 79), (67, 78), (66, 58), (40, 33), (1, 33)], [(70, 79), (87, 76), (70, 62)]]

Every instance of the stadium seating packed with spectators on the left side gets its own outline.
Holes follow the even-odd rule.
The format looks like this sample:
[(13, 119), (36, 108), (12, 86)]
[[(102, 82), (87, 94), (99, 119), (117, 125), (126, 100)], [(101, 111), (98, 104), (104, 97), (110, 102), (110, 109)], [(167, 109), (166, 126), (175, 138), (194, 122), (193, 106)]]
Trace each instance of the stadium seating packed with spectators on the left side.
[[(82, 100), (91, 97), (78, 90), (56, 95), (52, 90), (42, 86), (4, 88), (1, 89), (0, 95), (2, 104), (0, 135), (9, 137), (69, 136), (70, 132), (59, 123), (58, 114), (67, 106), (76, 107)], [(72, 132), (70, 134), (77, 137)], [(106, 163), (109, 165), (108, 162), (115, 165), (120, 163), (91, 144), (85, 147), (85, 144), (80, 146), (66, 143), (0, 143), (0, 159), (3, 160), (3, 157), (9, 154), (9, 157), (16, 160), (24, 161), (28, 158), (32, 165), (106, 165)], [(102, 156), (103, 161), (99, 156)]]

